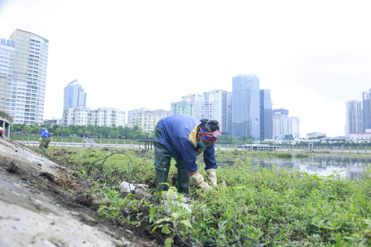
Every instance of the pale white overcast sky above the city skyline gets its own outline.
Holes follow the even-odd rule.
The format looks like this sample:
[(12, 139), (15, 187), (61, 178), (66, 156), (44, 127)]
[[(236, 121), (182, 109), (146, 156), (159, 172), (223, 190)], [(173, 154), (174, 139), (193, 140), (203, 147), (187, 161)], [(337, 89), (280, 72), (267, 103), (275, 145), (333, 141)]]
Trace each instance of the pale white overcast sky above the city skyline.
[(170, 110), (256, 74), (300, 136), (344, 135), (345, 101), (371, 87), (369, 1), (0, 0), (0, 37), (49, 40), (44, 118), (79, 78), (86, 105)]

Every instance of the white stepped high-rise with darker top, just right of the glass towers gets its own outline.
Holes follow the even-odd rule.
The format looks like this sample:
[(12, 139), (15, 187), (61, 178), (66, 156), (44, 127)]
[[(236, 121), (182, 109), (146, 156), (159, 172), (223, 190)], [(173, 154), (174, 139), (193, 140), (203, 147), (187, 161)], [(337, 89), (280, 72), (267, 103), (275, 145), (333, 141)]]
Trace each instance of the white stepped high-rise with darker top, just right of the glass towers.
[(292, 136), (299, 138), (300, 124), (298, 117), (289, 117), (289, 110), (274, 109), (272, 110), (273, 117), (273, 138), (286, 138)]

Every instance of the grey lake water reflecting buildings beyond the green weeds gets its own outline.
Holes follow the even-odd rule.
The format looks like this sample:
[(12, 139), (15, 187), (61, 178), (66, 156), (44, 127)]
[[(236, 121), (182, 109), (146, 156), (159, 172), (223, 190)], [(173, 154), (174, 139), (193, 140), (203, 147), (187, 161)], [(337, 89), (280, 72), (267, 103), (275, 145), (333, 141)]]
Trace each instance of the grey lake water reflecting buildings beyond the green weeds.
[[(295, 154), (294, 154), (295, 155)], [(349, 178), (362, 178), (364, 167), (371, 167), (371, 157), (348, 157), (348, 156), (310, 156), (308, 158), (278, 158), (261, 157), (253, 158), (253, 163), (260, 163), (263, 167), (281, 166), (305, 171), (309, 174), (318, 173), (318, 176), (328, 176), (332, 170), (342, 171), (342, 176)]]

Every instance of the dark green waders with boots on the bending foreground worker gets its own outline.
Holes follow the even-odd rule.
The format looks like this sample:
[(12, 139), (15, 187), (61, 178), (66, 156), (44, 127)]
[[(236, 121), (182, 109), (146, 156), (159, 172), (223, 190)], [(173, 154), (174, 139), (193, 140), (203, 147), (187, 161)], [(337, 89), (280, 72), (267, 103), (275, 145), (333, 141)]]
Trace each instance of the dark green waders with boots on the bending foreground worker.
[[(156, 188), (159, 191), (165, 190), (164, 184), (167, 182), (167, 175), (169, 173), (171, 154), (169, 151), (158, 141), (162, 135), (162, 128), (156, 126), (154, 133), (153, 146), (155, 148), (155, 172), (156, 172)], [(178, 168), (178, 192), (189, 194), (189, 173), (185, 171), (183, 158), (178, 157), (175, 167)]]

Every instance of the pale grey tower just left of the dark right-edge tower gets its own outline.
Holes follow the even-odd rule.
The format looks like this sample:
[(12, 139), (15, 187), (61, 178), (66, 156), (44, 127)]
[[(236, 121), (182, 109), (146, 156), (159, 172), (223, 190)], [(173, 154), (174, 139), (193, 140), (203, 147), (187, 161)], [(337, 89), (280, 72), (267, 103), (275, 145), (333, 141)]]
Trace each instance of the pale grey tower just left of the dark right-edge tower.
[(364, 117), (362, 101), (349, 100), (345, 103), (347, 128), (345, 129), (345, 137), (349, 137), (349, 133), (364, 132)]

